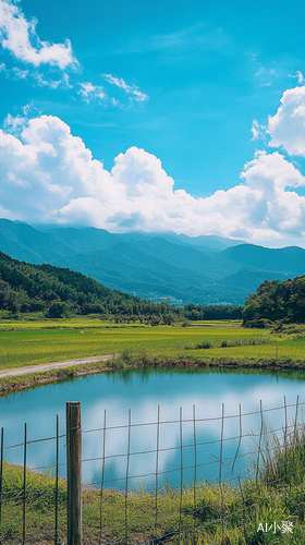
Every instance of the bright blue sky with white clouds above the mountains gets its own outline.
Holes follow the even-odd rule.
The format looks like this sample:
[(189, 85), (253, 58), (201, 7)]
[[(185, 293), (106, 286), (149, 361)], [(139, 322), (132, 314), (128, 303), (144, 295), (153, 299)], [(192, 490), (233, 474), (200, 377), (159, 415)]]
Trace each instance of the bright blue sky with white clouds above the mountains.
[(0, 0), (1, 216), (304, 245), (304, 17)]

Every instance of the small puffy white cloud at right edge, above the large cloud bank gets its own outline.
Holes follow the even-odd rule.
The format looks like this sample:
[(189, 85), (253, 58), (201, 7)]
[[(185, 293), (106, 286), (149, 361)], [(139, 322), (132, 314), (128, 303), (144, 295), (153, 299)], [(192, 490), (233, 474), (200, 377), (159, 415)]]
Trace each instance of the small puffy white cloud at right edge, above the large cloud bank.
[(305, 156), (305, 86), (283, 93), (276, 116), (269, 117), (269, 146), (283, 147), (289, 155)]

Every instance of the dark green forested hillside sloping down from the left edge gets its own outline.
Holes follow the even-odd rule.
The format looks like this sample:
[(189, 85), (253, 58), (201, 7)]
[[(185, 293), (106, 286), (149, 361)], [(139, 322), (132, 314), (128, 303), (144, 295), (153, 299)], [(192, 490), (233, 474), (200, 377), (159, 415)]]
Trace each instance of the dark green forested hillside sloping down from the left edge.
[[(42, 312), (47, 317), (100, 314), (149, 318), (168, 314), (155, 304), (106, 288), (81, 272), (51, 265), (30, 265), (0, 252), (0, 310), (9, 313)], [(173, 310), (174, 311), (174, 310)]]

